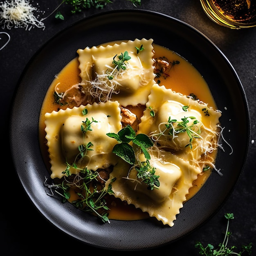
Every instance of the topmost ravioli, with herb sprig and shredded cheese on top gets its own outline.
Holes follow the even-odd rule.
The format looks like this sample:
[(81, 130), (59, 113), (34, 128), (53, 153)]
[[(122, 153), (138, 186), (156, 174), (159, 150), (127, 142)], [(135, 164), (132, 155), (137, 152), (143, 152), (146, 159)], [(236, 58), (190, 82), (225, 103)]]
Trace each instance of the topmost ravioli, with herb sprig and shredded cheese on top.
[[(122, 106), (144, 105), (155, 83), (152, 43), (153, 39), (143, 38), (78, 49), (83, 90), (99, 97), (100, 101), (111, 99), (119, 101)], [(144, 49), (137, 53), (141, 45)], [(113, 79), (108, 79), (114, 69), (113, 58), (116, 56), (115, 60), (118, 60), (118, 56), (126, 51), (131, 58), (125, 62), (125, 70), (121, 69)]]

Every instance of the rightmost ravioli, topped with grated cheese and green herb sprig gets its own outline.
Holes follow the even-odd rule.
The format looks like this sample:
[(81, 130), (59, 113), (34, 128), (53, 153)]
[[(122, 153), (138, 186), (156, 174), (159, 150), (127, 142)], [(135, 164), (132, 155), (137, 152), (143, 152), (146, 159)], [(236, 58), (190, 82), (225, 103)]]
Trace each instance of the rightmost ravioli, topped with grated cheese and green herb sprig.
[[(154, 117), (150, 115), (151, 109), (155, 113)], [(198, 164), (198, 161), (202, 160), (202, 155), (208, 155), (217, 148), (220, 116), (220, 111), (208, 107), (201, 101), (166, 89), (164, 85), (155, 84), (148, 97), (138, 132), (151, 136), (162, 148), (172, 151), (185, 160), (190, 160), (191, 164)], [(169, 117), (170, 120), (176, 120), (172, 123), (171, 135), (168, 134), (170, 129), (163, 133)], [(179, 128), (178, 122), (182, 123), (184, 119), (186, 125), (191, 126), (191, 135), (195, 136), (191, 146), (187, 146), (190, 144), (187, 132), (175, 132)], [(194, 124), (194, 121), (198, 123)]]

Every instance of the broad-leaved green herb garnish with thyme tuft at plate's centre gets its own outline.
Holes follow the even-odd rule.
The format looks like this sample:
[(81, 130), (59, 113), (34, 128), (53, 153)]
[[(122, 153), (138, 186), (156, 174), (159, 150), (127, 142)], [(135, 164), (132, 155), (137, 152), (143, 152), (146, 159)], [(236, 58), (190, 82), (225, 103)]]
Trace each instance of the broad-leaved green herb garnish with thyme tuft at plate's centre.
[[(117, 134), (110, 132), (107, 133), (110, 138), (114, 138), (118, 141), (112, 150), (114, 154), (121, 157), (124, 161), (135, 166), (136, 160), (138, 165), (135, 166), (137, 171), (137, 177), (141, 178), (143, 182), (148, 185), (148, 189), (153, 190), (155, 187), (160, 185), (159, 176), (155, 175), (155, 168), (151, 167), (149, 164), (150, 154), (148, 153), (148, 148), (153, 146), (153, 141), (145, 134), (137, 134), (135, 130), (132, 129), (130, 125), (121, 129)], [(137, 152), (135, 153), (134, 148), (129, 144), (136, 145)], [(140, 162), (137, 159), (139, 150), (144, 153), (146, 158), (145, 162)]]

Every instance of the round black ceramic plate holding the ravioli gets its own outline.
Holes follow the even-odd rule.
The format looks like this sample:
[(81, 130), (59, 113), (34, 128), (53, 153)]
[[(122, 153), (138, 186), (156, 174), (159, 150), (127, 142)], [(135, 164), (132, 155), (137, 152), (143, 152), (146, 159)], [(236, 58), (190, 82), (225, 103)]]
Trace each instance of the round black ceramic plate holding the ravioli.
[[(184, 204), (173, 227), (163, 226), (152, 219), (111, 220), (110, 224), (101, 224), (71, 204), (62, 204), (58, 198), (49, 197), (43, 185), (49, 174), (38, 144), (38, 118), (54, 76), (76, 57), (79, 48), (135, 38), (153, 38), (154, 43), (177, 52), (195, 66), (209, 84), (218, 109), (222, 111), (223, 135), (233, 148), (232, 154), (228, 146), (225, 152), (219, 150), (216, 166), (221, 168), (223, 176), (212, 173), (199, 193)], [(243, 124), (239, 127), (239, 138), (237, 117)], [(10, 130), (18, 176), (29, 198), (45, 218), (86, 244), (135, 250), (157, 247), (183, 237), (222, 206), (243, 169), (249, 144), (249, 114), (245, 92), (234, 68), (200, 31), (160, 13), (124, 10), (86, 18), (57, 34), (37, 52), (18, 84)]]

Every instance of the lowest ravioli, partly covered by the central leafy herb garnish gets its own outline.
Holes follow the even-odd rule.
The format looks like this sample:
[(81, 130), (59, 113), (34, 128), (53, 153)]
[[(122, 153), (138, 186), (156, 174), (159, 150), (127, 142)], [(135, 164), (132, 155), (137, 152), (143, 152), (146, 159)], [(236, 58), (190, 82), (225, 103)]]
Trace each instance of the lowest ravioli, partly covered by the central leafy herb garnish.
[(123, 160), (119, 160), (110, 173), (106, 186), (116, 177), (117, 180), (112, 183), (115, 197), (172, 227), (192, 182), (201, 170), (167, 151), (153, 149), (149, 153), (150, 165), (156, 168), (155, 174), (160, 176), (159, 189), (148, 190), (145, 183), (137, 180), (137, 171)]

